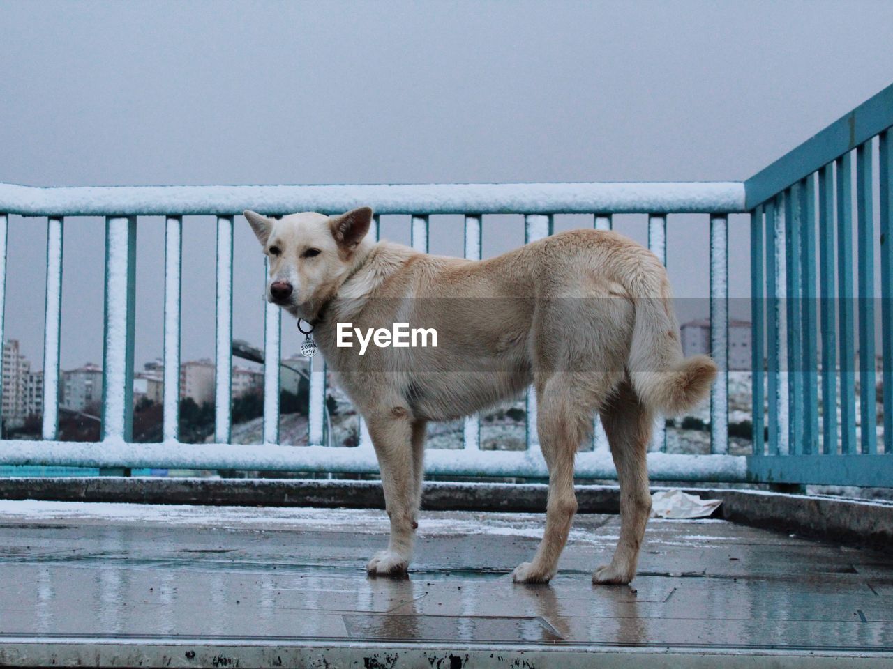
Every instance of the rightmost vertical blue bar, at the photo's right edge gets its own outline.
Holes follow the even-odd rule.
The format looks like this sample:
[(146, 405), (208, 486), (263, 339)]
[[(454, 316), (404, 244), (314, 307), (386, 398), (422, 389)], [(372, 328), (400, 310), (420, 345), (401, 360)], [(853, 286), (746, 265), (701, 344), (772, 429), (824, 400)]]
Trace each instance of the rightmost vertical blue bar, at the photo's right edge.
[[(893, 130), (880, 134), (880, 319), (884, 453), (893, 454)], [(2, 321), (0, 321), (2, 322)], [(2, 339), (2, 337), (0, 337)]]

